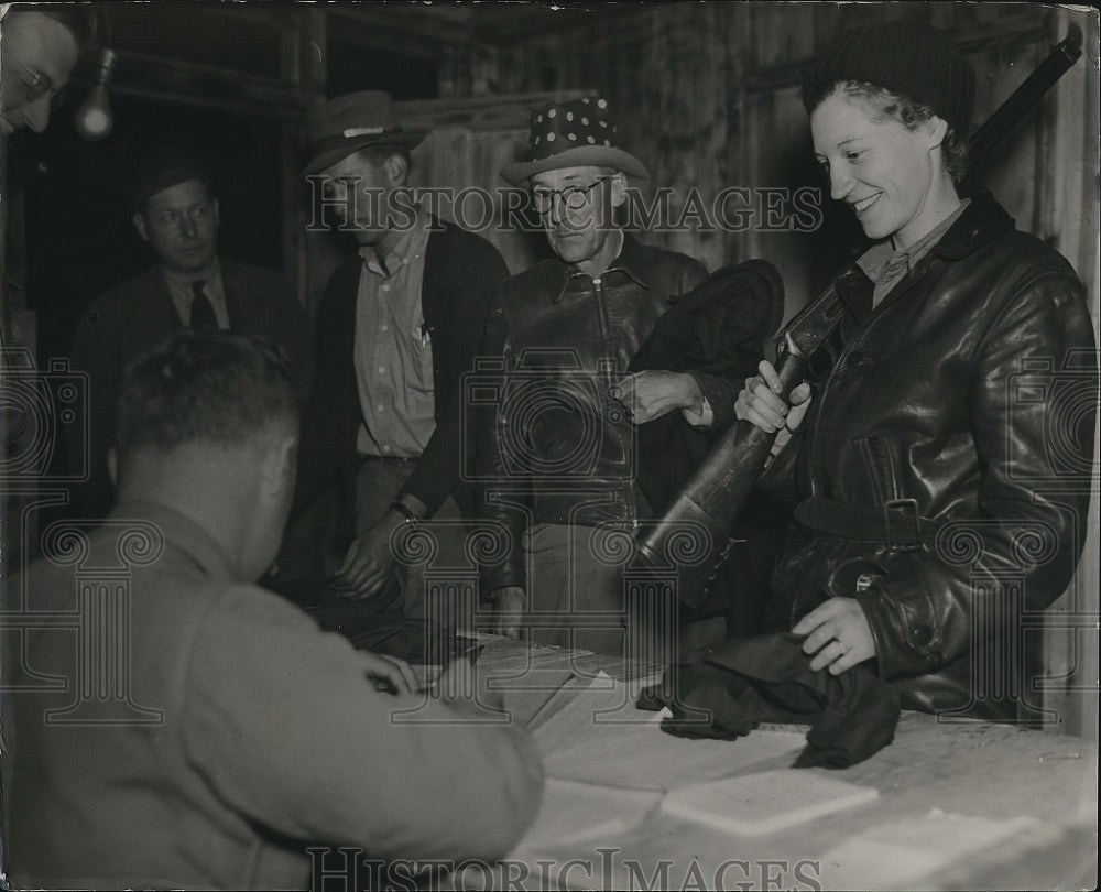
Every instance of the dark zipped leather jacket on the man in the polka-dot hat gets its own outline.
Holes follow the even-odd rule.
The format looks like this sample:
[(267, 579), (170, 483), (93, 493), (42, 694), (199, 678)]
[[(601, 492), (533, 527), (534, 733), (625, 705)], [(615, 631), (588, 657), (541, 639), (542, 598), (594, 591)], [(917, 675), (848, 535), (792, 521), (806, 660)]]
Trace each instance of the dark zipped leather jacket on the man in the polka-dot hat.
[[(637, 428), (613, 388), (669, 298), (706, 275), (697, 261), (624, 235), (597, 279), (552, 258), (501, 285), (478, 383), (468, 387), (479, 518), (503, 524), (509, 541), (503, 562), (482, 565), (487, 590), (525, 584), (520, 543), (528, 527), (630, 529), (646, 511), (635, 486)], [(732, 405), (730, 382), (696, 378), (706, 396)]]

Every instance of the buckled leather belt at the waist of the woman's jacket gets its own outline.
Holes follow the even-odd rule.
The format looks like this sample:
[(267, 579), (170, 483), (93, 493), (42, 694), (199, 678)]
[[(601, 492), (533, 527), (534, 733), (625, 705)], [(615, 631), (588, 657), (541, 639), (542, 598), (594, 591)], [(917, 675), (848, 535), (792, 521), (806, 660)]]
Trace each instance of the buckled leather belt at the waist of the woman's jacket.
[(826, 539), (875, 542), (900, 551), (931, 545), (944, 526), (923, 518), (916, 499), (892, 499), (875, 507), (811, 497), (796, 505), (795, 520)]

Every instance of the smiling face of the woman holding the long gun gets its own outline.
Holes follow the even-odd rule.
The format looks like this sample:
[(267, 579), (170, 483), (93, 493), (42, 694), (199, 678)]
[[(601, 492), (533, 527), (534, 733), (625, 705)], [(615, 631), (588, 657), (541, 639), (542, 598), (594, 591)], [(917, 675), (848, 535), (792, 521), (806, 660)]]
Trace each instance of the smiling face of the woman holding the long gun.
[(908, 128), (860, 97), (838, 90), (810, 115), (815, 156), (830, 196), (852, 208), (872, 239), (907, 244), (937, 218), (934, 188), (944, 139), (939, 118)]

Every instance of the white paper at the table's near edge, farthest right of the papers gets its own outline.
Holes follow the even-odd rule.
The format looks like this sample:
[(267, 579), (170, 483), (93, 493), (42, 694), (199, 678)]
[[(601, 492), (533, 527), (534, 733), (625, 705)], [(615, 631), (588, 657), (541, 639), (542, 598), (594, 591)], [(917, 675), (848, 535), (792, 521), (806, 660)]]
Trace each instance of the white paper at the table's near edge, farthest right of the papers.
[(1034, 835), (1035, 818), (973, 817), (931, 809), (916, 818), (893, 820), (847, 839), (821, 858), (820, 880), (828, 889), (898, 889), (964, 859)]

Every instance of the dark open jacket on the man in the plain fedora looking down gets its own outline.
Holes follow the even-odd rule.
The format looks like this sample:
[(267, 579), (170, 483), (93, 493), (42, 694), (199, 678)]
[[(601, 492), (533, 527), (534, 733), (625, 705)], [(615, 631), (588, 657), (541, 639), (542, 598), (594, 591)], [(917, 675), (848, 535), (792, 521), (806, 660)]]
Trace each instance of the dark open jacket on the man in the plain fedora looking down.
[[(436, 429), (404, 491), (434, 513), (454, 494), (467, 516), (473, 513), (467, 487), (457, 487), (464, 439), (462, 376), (486, 330), (489, 305), (509, 271), (498, 250), (459, 227), (433, 220), (421, 285), (421, 306), (432, 338)], [(298, 474), (299, 508), (339, 475), (341, 491), (355, 491), (356, 435), (362, 423), (356, 383), (356, 301), (363, 264), (349, 258), (333, 273), (321, 297), (317, 331), (317, 377), (303, 421)]]

